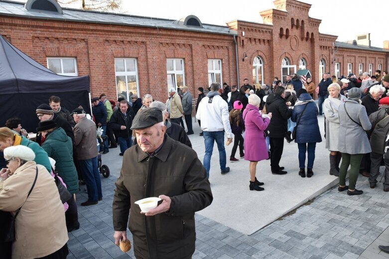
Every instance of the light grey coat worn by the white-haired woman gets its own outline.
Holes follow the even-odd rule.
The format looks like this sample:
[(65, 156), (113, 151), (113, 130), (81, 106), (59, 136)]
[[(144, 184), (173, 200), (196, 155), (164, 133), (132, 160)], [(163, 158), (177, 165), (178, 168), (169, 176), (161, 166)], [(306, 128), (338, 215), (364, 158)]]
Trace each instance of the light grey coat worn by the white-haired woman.
[(339, 94), (338, 98), (332, 98), (328, 96), (324, 100), (323, 110), (326, 117), (326, 149), (329, 151), (338, 150), (338, 138), (339, 138), (339, 105), (346, 101), (346, 97)]

